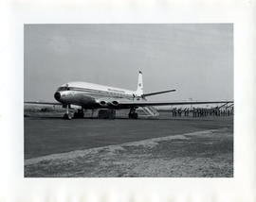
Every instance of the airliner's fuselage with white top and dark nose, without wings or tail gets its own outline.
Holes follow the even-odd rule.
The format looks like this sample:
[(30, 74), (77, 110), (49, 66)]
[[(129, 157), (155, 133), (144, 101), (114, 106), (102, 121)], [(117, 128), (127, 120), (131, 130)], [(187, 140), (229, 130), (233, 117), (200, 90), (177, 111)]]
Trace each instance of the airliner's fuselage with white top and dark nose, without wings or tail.
[(119, 99), (133, 100), (136, 97), (133, 91), (87, 82), (65, 83), (54, 94), (54, 98), (62, 104), (84, 109), (115, 109)]

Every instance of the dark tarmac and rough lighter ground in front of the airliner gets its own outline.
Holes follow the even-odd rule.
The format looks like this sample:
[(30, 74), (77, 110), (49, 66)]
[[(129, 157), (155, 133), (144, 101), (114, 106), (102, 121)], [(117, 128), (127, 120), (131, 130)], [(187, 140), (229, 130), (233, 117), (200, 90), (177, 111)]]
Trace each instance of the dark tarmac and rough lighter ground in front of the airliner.
[(233, 177), (233, 116), (25, 117), (25, 177)]

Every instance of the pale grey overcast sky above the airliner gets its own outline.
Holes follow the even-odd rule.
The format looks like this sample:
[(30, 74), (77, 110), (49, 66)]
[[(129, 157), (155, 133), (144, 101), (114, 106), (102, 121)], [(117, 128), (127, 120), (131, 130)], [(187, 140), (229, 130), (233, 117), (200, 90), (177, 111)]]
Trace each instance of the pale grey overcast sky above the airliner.
[(150, 100), (233, 100), (232, 24), (25, 25), (25, 101), (54, 101), (62, 84), (85, 81)]

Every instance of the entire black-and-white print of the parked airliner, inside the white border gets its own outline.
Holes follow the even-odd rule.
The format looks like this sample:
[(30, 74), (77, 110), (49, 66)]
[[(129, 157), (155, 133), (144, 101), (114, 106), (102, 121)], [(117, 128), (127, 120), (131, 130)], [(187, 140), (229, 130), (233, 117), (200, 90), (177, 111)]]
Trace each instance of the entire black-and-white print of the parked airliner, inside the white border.
[(24, 25), (24, 177), (233, 177), (233, 24)]

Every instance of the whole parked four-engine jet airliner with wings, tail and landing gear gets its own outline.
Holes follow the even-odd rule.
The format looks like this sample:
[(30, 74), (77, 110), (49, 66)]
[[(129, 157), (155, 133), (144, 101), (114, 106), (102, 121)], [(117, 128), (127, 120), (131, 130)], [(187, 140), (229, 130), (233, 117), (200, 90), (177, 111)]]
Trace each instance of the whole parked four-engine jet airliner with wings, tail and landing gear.
[[(58, 103), (49, 102), (26, 102), (27, 104), (49, 104), (62, 105), (66, 112), (64, 119), (82, 118), (84, 109), (130, 109), (128, 117), (137, 119), (137, 108), (142, 108), (147, 114), (157, 116), (158, 112), (153, 106), (169, 105), (200, 105), (200, 104), (217, 104), (232, 103), (232, 101), (210, 101), (210, 102), (155, 102), (147, 101), (146, 97), (171, 93), (175, 90), (167, 90), (155, 93), (143, 93), (142, 73), (138, 72), (137, 91), (103, 86), (87, 82), (68, 82), (58, 88), (54, 93), (54, 98)], [(77, 106), (80, 109), (72, 116), (70, 113), (71, 106)]]

